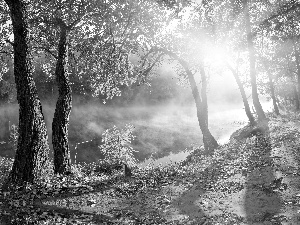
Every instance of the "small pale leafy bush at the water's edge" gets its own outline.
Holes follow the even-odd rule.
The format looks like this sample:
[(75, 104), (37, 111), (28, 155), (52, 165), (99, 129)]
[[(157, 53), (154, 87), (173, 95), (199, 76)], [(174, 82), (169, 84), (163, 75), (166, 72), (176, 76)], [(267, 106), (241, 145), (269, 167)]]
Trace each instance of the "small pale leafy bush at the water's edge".
[(104, 153), (106, 161), (112, 164), (125, 163), (130, 167), (136, 165), (133, 155), (135, 150), (130, 146), (131, 141), (135, 138), (133, 130), (132, 125), (126, 124), (124, 129), (114, 126), (102, 134), (104, 144), (99, 148)]

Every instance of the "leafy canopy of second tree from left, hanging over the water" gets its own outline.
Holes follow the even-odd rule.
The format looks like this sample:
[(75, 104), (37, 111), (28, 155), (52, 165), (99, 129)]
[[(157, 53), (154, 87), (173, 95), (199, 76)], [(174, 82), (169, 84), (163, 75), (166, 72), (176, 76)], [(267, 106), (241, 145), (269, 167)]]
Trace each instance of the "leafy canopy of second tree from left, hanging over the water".
[(32, 1), (28, 10), (32, 49), (48, 76), (55, 70), (58, 21), (63, 21), (70, 28), (71, 83), (82, 93), (104, 98), (104, 103), (120, 96), (120, 86), (137, 80), (131, 58), (147, 48), (146, 42), (165, 23), (164, 8), (153, 1)]

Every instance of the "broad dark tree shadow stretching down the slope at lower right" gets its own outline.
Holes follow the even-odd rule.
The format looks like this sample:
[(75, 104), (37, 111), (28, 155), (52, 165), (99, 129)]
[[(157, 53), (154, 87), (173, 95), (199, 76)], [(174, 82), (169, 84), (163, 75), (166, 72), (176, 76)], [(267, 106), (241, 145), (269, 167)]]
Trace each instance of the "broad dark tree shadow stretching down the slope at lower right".
[(247, 174), (244, 210), (246, 220), (250, 223), (274, 221), (274, 216), (280, 212), (282, 200), (279, 193), (274, 191), (276, 178), (271, 158), (271, 139), (269, 127), (264, 134), (255, 138), (254, 149), (250, 155), (251, 162)]

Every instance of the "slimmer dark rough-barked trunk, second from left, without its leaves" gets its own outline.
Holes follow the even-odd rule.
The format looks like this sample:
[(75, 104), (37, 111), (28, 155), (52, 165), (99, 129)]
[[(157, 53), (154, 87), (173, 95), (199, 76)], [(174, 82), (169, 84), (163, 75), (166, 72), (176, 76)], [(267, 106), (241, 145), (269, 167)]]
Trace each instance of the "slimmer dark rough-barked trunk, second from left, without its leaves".
[(58, 100), (52, 122), (52, 144), (54, 152), (54, 172), (71, 172), (70, 151), (68, 146), (68, 127), (72, 108), (72, 94), (67, 72), (67, 26), (60, 20), (60, 39), (55, 78), (58, 86)]

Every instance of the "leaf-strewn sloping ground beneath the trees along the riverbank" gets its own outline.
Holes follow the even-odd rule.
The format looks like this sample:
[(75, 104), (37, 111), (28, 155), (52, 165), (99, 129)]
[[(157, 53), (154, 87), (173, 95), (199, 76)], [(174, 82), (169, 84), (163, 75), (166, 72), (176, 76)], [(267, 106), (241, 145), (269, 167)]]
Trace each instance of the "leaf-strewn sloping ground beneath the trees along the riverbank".
[[(269, 116), (265, 135), (184, 164), (131, 177), (77, 166), (48, 187), (2, 192), (0, 224), (300, 224), (300, 115)], [(1, 160), (0, 181), (11, 165)]]

